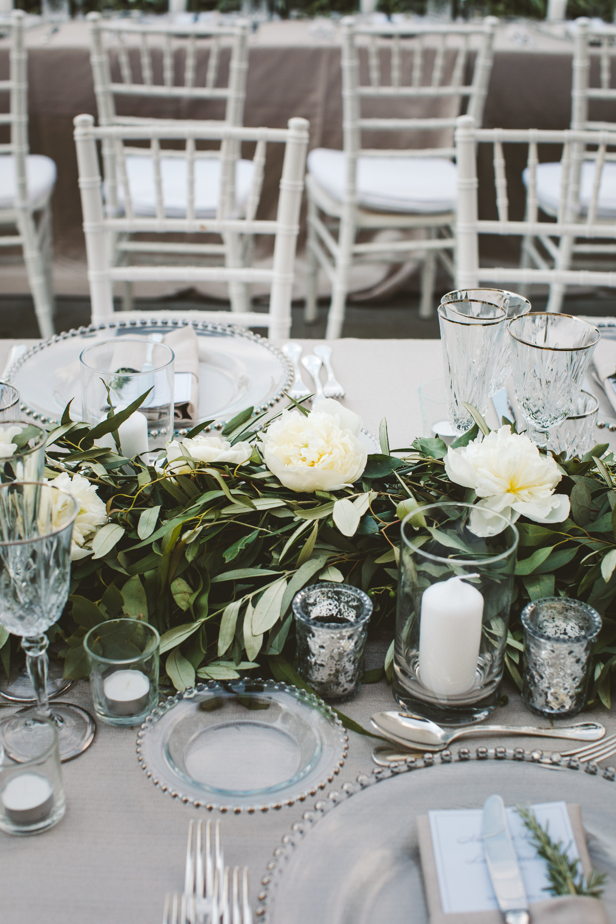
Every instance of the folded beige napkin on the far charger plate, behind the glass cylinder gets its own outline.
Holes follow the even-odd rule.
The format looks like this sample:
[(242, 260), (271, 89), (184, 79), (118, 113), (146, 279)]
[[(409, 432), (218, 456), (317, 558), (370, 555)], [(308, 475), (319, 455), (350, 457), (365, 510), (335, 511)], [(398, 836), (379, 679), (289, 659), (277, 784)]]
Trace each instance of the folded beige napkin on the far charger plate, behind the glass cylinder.
[[(111, 360), (112, 371), (143, 368), (148, 343), (152, 338), (138, 337), (142, 343), (123, 342), (118, 337)], [(170, 346), (175, 353), (175, 419), (194, 420), (199, 407), (199, 340), (193, 327), (178, 327), (165, 334), (158, 342)], [(188, 382), (187, 382), (188, 379)]]

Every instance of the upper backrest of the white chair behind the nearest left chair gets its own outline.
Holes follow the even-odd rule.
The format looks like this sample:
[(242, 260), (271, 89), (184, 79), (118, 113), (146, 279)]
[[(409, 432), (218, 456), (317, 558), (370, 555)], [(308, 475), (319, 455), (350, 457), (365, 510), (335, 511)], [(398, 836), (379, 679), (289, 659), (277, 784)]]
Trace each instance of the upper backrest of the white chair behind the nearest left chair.
[[(91, 67), (99, 124), (118, 120), (115, 97), (223, 101), (224, 121), (242, 125), (248, 71), (248, 22), (229, 26), (140, 25), (88, 15)], [(222, 85), (221, 50), (230, 46), (229, 75)], [(205, 52), (208, 52), (207, 67)], [(115, 70), (116, 68), (116, 70)], [(119, 79), (114, 79), (114, 72)]]

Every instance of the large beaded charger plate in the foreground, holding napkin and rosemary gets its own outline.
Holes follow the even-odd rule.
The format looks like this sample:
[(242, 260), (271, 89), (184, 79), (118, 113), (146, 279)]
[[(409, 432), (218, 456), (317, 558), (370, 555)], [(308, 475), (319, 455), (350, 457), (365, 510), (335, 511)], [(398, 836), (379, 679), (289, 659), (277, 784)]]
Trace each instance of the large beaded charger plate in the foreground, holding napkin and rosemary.
[[(304, 812), (261, 880), (257, 919), (267, 924), (429, 924), (417, 845), (418, 815), (434, 808), (481, 808), (500, 794), (507, 806), (563, 799), (582, 808), (595, 869), (608, 872), (604, 902), (616, 924), (616, 772), (596, 775), (481, 748), (483, 759), (448, 753), (360, 774)], [(451, 761), (451, 762), (449, 762)], [(580, 922), (582, 924), (582, 922)]]

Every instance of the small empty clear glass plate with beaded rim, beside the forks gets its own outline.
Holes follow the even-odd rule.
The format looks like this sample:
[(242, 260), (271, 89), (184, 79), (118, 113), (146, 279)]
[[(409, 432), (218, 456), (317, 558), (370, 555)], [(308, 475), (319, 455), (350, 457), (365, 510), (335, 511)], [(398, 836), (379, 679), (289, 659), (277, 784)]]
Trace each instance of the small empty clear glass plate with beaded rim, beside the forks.
[(273, 680), (209, 681), (146, 716), (137, 757), (195, 808), (248, 813), (315, 796), (344, 766), (348, 736), (312, 693)]

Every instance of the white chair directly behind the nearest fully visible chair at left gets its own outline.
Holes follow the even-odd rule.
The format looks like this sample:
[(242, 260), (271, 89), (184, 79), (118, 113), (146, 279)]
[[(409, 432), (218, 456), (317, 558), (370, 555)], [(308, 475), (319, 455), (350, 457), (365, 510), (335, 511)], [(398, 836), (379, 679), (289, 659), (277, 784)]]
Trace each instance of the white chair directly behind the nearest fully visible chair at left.
[[(245, 20), (220, 27), (203, 27), (199, 24), (180, 26), (168, 20), (156, 25), (141, 25), (127, 20), (105, 20), (99, 13), (91, 13), (88, 21), (92, 76), (100, 125), (150, 125), (159, 121), (151, 117), (118, 116), (116, 103), (128, 99), (132, 104), (135, 104), (136, 99), (142, 104), (148, 100), (155, 101), (162, 113), (168, 104), (174, 107), (168, 111), (175, 113), (178, 103), (183, 105), (185, 112), (189, 112), (190, 103), (208, 102), (211, 103), (211, 116), (217, 116), (222, 124), (242, 125), (248, 71), (248, 23)], [(226, 81), (222, 54), (225, 49), (229, 51)], [(236, 178), (240, 191), (236, 204), (240, 212), (246, 204), (243, 193), (252, 182), (252, 162), (240, 160), (239, 147), (231, 143), (223, 146), (221, 156), (223, 163), (220, 159), (199, 161), (195, 176), (199, 215), (214, 216), (225, 196), (233, 199)], [(124, 203), (121, 198), (117, 198), (113, 149), (107, 145), (103, 146), (103, 161), (107, 179), (105, 201), (107, 208), (117, 213)], [(139, 179), (142, 165), (138, 155), (128, 158), (129, 176)], [(186, 186), (185, 168), (183, 161), (165, 159), (163, 162), (163, 202), (166, 215), (176, 213), (177, 189), (181, 194), (182, 188)], [(223, 179), (227, 188), (223, 188)], [(144, 199), (144, 195), (149, 198)], [(134, 204), (138, 213), (155, 213), (153, 185), (147, 177), (142, 184), (141, 195)], [(126, 259), (129, 253), (142, 250), (139, 241), (131, 242), (130, 238), (124, 237), (121, 243)], [(223, 238), (222, 243), (200, 244), (199, 253), (206, 258), (215, 254), (224, 260), (226, 266), (239, 267), (251, 261), (251, 244), (251, 237), (242, 239), (236, 234), (230, 234)], [(161, 251), (165, 249), (162, 244)], [(248, 286), (237, 282), (230, 284), (229, 296), (232, 310), (241, 312), (249, 309)], [(131, 306), (132, 286), (127, 284), (125, 308)]]

